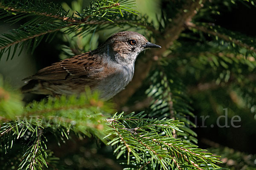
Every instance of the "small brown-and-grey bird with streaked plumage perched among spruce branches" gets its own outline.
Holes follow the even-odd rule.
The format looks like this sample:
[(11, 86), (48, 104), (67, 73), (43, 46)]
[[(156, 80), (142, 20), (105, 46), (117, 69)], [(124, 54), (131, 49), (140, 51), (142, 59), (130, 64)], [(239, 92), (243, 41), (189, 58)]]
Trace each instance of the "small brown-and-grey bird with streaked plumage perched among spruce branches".
[(97, 49), (75, 55), (39, 70), (23, 79), (23, 93), (43, 95), (79, 95), (89, 86), (108, 100), (132, 80), (134, 63), (140, 52), (161, 48), (137, 32), (113, 34)]

